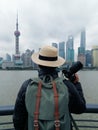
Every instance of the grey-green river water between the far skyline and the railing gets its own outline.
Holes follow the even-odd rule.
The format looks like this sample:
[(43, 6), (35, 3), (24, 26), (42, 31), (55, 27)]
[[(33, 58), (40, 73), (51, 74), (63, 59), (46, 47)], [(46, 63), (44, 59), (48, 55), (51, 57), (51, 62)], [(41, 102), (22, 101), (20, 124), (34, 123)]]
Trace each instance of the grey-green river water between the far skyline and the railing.
[[(87, 103), (98, 104), (98, 71), (78, 72)], [(0, 106), (14, 105), (17, 93), (28, 78), (37, 71), (0, 71)]]

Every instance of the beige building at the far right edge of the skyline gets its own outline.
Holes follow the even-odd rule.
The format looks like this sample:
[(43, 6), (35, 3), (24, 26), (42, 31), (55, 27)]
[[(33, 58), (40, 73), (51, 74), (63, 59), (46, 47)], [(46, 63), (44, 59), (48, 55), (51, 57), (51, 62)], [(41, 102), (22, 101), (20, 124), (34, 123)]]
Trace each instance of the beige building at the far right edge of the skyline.
[(98, 46), (92, 48), (92, 64), (93, 67), (98, 67)]

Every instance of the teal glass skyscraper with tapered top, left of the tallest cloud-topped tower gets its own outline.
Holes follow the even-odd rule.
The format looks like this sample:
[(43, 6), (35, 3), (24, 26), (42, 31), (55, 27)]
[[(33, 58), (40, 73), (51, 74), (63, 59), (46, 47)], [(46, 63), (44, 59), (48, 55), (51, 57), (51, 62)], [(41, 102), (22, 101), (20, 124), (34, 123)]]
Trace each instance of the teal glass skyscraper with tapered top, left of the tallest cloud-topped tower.
[(74, 40), (73, 36), (69, 36), (66, 42), (66, 62), (73, 63), (74, 62)]

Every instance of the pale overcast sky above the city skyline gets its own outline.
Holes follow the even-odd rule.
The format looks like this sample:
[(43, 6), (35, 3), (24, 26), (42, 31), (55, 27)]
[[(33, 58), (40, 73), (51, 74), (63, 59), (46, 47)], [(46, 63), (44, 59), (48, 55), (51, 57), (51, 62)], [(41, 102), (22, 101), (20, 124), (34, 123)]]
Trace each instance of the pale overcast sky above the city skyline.
[(98, 45), (98, 0), (0, 0), (0, 56), (15, 54), (17, 12), (21, 53), (66, 42), (68, 35), (77, 51), (84, 27), (86, 48)]

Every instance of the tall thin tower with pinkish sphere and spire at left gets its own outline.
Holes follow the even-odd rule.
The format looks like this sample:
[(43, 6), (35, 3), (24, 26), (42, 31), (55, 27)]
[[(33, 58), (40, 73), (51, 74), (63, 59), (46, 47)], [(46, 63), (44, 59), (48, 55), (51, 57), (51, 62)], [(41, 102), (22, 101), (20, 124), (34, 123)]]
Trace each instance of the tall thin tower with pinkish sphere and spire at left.
[[(20, 52), (19, 52), (19, 36), (20, 36), (20, 32), (18, 30), (18, 16), (17, 16), (17, 19), (16, 19), (16, 31), (14, 32), (14, 35), (15, 35), (15, 57), (17, 58), (20, 58)], [(16, 58), (16, 59), (17, 59)]]

